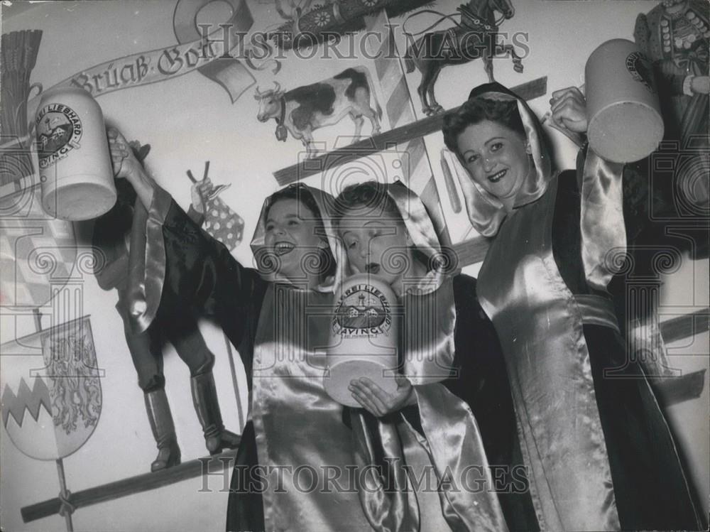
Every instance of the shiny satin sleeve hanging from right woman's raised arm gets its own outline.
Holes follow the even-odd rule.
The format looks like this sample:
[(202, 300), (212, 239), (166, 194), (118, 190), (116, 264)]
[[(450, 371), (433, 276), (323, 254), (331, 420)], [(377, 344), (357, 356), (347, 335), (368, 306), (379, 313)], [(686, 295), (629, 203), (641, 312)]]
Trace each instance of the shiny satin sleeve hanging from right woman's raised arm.
[(586, 281), (605, 291), (626, 253), (623, 218), (623, 164), (611, 163), (591, 148), (581, 170), (581, 256)]

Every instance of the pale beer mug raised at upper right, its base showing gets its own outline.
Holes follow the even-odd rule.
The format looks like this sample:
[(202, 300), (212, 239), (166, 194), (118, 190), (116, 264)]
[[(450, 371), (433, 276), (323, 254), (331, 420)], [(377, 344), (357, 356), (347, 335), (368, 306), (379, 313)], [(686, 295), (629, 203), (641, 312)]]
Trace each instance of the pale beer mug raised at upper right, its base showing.
[(663, 139), (652, 65), (635, 43), (607, 40), (584, 69), (589, 146), (606, 161), (630, 163)]

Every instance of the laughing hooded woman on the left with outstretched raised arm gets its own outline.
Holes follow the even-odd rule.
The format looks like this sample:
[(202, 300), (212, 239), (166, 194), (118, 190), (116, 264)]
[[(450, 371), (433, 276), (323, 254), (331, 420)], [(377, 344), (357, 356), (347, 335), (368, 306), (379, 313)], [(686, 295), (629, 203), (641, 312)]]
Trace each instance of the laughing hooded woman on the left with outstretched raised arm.
[(332, 198), (300, 184), (268, 197), (251, 241), (258, 269), (245, 268), (139, 165), (120, 157), (114, 165), (160, 227), (165, 288), (179, 305), (214, 316), (244, 363), (250, 420), (231, 477), (227, 530), (368, 530), (357, 490), (333, 489), (333, 482), (353, 485), (343, 477), (357, 465), (342, 406), (323, 386), (317, 348), (327, 345), (329, 316), (312, 311), (333, 305), (336, 278), (328, 273), (339, 242), (322, 221)]

